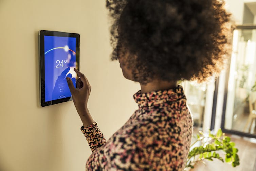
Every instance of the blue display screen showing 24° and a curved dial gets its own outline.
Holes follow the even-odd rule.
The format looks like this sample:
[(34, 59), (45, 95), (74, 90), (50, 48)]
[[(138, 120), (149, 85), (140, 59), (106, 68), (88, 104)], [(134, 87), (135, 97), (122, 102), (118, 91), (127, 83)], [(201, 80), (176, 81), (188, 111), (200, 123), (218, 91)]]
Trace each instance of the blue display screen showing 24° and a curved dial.
[(45, 102), (71, 97), (66, 81), (75, 86), (76, 38), (44, 36)]

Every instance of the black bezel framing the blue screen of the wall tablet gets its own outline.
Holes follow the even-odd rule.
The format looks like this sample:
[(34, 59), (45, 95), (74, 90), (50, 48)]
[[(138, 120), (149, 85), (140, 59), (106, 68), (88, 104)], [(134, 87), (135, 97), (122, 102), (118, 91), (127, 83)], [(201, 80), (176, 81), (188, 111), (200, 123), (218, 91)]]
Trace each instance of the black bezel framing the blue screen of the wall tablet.
[(60, 37), (75, 37), (76, 38), (76, 69), (79, 70), (80, 66), (80, 35), (78, 33), (67, 33), (60, 31), (39, 31), (39, 70), (40, 70), (40, 104), (42, 107), (62, 102), (71, 101), (72, 97), (52, 100), (45, 102), (45, 70), (44, 70), (44, 36), (60, 36)]

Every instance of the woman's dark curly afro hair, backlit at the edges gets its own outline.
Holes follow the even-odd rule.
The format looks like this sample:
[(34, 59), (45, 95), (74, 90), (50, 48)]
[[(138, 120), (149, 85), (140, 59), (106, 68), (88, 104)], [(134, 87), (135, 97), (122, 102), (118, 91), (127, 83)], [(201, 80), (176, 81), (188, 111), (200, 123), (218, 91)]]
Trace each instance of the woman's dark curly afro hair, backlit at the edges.
[(231, 14), (221, 0), (107, 0), (106, 7), (111, 60), (122, 44), (128, 68), (142, 84), (154, 78), (203, 82), (230, 55)]

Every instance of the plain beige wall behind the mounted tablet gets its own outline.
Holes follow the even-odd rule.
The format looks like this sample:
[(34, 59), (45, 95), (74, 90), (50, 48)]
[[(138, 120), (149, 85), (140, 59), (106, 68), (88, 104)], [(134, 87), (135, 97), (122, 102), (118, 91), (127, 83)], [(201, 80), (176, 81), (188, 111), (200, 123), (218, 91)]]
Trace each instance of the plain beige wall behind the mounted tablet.
[(108, 139), (140, 89), (111, 62), (104, 0), (0, 0), (0, 171), (83, 171), (91, 154), (73, 102), (39, 105), (38, 31), (80, 33), (88, 108)]

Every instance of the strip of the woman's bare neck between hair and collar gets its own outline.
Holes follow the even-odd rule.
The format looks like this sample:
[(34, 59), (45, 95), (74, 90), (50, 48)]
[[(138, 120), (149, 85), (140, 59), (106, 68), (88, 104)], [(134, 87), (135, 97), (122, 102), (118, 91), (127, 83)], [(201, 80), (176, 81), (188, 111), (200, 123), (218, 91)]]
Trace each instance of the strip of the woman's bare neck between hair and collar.
[(150, 91), (156, 91), (156, 90), (165, 90), (170, 88), (177, 87), (177, 81), (162, 81), (162, 80), (153, 80), (152, 82), (147, 83), (146, 85), (141, 85), (141, 93), (146, 93)]

